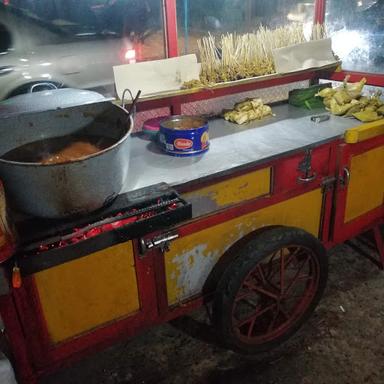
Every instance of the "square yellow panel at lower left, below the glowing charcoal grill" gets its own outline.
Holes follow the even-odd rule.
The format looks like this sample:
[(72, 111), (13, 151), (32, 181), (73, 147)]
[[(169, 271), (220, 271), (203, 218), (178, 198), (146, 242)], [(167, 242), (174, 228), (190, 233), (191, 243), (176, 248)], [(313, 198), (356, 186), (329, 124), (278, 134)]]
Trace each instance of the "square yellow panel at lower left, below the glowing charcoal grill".
[(131, 241), (34, 277), (55, 343), (139, 310)]

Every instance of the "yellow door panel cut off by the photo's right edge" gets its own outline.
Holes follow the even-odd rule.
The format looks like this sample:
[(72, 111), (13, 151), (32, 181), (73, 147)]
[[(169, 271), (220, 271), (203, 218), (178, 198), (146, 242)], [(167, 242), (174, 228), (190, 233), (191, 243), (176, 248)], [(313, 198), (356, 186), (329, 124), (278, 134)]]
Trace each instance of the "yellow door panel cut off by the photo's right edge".
[(345, 222), (383, 204), (384, 146), (352, 157)]

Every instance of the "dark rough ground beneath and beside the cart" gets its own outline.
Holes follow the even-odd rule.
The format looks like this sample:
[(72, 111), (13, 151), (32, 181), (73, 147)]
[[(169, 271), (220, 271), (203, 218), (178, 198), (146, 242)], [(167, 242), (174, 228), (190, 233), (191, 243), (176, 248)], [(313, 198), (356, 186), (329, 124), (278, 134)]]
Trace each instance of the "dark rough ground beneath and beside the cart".
[(315, 314), (268, 356), (220, 349), (211, 330), (194, 320), (197, 313), (84, 359), (44, 384), (382, 384), (383, 302), (384, 273), (339, 246), (330, 252), (329, 284)]

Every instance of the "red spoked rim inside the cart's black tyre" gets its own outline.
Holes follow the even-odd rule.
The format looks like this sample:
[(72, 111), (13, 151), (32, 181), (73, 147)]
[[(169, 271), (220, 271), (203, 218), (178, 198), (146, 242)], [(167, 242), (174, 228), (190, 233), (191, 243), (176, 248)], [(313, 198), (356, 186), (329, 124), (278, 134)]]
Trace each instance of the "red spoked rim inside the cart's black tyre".
[(284, 335), (310, 306), (320, 265), (309, 248), (290, 245), (258, 263), (244, 278), (232, 307), (236, 336), (262, 344)]

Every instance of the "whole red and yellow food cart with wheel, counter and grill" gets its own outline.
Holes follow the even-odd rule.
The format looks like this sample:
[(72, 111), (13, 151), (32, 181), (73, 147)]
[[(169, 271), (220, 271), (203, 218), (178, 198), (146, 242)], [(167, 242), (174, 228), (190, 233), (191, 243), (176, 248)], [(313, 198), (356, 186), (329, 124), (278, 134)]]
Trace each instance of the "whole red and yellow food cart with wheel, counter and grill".
[[(207, 102), (222, 108), (340, 76), (331, 69), (149, 97), (138, 111), (201, 113)], [(368, 81), (383, 86), (379, 75)], [(20, 382), (208, 302), (226, 346), (266, 351), (321, 299), (327, 249), (372, 231), (383, 268), (384, 120), (316, 123), (286, 102), (273, 111), (245, 128), (210, 120), (199, 157), (134, 137), (111, 205), (76, 219), (15, 219), (20, 243), (1, 265), (0, 313)]]

